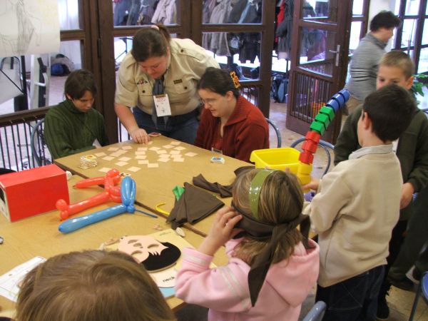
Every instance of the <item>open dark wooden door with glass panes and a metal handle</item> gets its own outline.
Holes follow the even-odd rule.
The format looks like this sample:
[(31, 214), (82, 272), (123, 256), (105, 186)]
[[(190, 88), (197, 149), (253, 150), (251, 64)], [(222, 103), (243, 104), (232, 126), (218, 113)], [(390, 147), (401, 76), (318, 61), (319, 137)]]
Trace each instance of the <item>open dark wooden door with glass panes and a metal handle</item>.
[[(352, 0), (294, 1), (288, 129), (305, 135), (320, 107), (345, 85), (351, 20)], [(335, 142), (341, 119), (337, 113), (322, 139)]]

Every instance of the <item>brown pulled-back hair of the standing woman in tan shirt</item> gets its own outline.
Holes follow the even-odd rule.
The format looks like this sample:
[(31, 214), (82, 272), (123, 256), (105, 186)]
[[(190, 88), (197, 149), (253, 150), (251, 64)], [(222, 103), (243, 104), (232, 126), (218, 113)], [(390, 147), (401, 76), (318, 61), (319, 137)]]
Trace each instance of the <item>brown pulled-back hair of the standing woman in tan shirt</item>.
[(133, 37), (131, 54), (137, 62), (146, 61), (151, 57), (165, 56), (170, 40), (168, 29), (162, 24), (139, 29)]

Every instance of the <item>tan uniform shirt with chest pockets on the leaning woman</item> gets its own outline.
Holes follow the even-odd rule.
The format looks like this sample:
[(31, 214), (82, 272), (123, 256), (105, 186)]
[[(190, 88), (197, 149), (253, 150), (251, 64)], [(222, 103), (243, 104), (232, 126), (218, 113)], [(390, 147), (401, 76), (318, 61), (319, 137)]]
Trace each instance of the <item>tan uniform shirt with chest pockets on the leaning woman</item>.
[[(163, 86), (168, 94), (172, 116), (189, 113), (199, 106), (196, 86), (208, 67), (220, 68), (205, 49), (190, 39), (171, 39), (170, 61)], [(154, 83), (155, 80), (143, 73), (129, 52), (119, 68), (115, 102), (128, 107), (138, 106), (151, 115)]]

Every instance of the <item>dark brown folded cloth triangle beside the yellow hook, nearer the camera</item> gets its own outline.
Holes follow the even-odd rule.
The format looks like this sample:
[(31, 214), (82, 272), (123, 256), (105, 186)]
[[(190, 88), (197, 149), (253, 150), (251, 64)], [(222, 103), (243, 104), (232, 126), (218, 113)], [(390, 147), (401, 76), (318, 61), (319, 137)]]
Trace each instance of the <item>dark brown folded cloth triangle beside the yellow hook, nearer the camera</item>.
[(225, 203), (213, 194), (197, 188), (189, 183), (184, 183), (184, 193), (180, 200), (175, 201), (173, 210), (167, 218), (172, 228), (183, 225), (185, 222), (196, 223), (199, 220), (222, 208)]

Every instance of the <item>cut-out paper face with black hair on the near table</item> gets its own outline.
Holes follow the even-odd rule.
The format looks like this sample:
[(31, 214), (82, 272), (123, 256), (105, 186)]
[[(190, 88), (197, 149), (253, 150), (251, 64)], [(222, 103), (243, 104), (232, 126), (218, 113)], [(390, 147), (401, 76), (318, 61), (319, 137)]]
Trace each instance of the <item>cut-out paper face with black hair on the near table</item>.
[(119, 241), (118, 250), (131, 255), (148, 271), (163, 270), (175, 264), (180, 258), (180, 250), (171, 243), (161, 243), (151, 236), (124, 236)]

